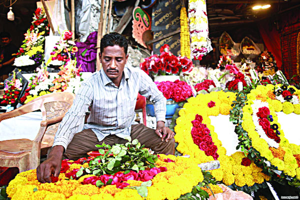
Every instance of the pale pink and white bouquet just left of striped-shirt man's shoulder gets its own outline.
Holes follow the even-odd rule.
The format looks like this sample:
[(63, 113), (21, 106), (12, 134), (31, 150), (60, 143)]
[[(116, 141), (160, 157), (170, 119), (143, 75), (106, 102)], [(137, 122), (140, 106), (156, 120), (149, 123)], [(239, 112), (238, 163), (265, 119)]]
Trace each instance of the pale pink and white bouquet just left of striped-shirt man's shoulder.
[(60, 66), (59, 76), (55, 78), (52, 83), (53, 86), (49, 88), (52, 92), (67, 91), (74, 92), (79, 89), (80, 81), (82, 81), (81, 67), (76, 68), (76, 61), (69, 60), (64, 66)]

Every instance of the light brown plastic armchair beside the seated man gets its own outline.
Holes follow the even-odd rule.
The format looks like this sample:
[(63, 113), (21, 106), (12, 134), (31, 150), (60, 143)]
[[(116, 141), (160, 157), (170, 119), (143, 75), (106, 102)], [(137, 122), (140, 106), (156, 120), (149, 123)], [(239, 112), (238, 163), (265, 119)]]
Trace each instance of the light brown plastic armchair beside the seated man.
[(0, 121), (2, 121), (35, 110), (40, 110), (42, 113), (40, 128), (34, 140), (11, 139), (0, 141), (0, 166), (18, 167), (19, 172), (36, 168), (40, 162), (41, 148), (51, 147), (52, 145), (51, 143), (45, 146), (41, 145), (44, 134), (50, 134), (50, 140), (53, 140), (54, 135), (51, 135), (51, 133), (56, 132), (58, 124), (71, 106), (74, 97), (75, 95), (69, 92), (45, 94), (10, 112), (0, 114)]

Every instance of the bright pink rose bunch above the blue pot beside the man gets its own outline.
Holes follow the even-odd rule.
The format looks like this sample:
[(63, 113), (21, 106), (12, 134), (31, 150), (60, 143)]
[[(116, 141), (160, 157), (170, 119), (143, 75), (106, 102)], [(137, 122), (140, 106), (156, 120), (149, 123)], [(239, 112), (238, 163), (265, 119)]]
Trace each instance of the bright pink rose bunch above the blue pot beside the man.
[(190, 85), (184, 81), (175, 80), (174, 82), (162, 81), (155, 83), (166, 99), (171, 98), (176, 102), (180, 102), (192, 96)]

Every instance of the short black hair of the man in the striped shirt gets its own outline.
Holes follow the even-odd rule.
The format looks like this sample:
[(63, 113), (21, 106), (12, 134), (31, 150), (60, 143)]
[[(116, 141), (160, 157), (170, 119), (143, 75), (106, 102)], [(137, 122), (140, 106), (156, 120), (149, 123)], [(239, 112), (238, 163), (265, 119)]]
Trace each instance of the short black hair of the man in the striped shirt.
[(124, 52), (125, 54), (127, 54), (128, 40), (117, 32), (107, 33), (101, 38), (100, 53), (104, 51), (104, 48), (106, 46), (114, 46), (114, 45), (124, 47)]

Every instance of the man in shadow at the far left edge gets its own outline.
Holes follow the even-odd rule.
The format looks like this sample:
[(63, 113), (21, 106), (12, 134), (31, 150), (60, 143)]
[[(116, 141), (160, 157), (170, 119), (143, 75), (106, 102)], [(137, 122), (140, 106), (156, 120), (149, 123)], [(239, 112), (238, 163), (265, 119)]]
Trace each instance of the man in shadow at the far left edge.
[(0, 47), (0, 81), (5, 80), (8, 74), (13, 70), (13, 61), (17, 52), (17, 47), (11, 43), (11, 37), (8, 32), (1, 32), (0, 38), (2, 46)]

